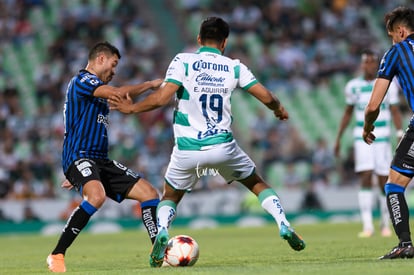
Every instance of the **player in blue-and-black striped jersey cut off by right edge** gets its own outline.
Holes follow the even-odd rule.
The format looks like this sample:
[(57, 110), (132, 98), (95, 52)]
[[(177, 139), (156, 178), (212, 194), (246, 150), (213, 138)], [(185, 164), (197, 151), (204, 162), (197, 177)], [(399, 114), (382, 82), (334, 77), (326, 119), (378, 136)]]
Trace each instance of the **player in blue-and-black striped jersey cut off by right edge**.
[[(407, 102), (414, 111), (414, 10), (398, 7), (385, 15), (388, 35), (393, 46), (384, 54), (373, 92), (365, 108), (362, 137), (368, 144), (375, 142), (374, 122), (394, 76), (398, 78)], [(414, 117), (398, 144), (384, 190), (388, 211), (399, 243), (380, 259), (413, 258), (409, 210), (404, 191), (414, 176)]]

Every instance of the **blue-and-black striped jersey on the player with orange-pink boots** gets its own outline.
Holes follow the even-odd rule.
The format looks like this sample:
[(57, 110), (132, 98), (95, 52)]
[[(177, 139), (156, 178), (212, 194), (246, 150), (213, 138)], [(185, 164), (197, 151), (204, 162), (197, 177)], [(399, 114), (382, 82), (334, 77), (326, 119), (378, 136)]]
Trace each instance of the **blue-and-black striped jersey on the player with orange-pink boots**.
[(68, 85), (63, 110), (64, 172), (79, 158), (108, 158), (109, 105), (106, 99), (93, 96), (96, 88), (104, 84), (96, 75), (81, 70)]

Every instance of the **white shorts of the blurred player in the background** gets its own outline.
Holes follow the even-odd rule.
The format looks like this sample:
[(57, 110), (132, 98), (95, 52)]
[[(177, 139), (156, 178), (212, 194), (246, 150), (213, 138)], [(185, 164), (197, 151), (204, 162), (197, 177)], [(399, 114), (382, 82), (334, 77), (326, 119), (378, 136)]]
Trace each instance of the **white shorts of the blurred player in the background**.
[(363, 140), (354, 143), (355, 172), (374, 171), (380, 176), (387, 176), (392, 161), (391, 144), (389, 142), (374, 142), (371, 145)]

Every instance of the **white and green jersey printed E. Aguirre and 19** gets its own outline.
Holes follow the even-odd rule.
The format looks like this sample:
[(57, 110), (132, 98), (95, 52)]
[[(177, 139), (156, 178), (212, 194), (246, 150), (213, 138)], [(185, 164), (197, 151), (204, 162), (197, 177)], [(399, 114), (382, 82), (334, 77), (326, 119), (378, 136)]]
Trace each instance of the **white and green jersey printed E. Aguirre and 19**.
[(177, 54), (165, 81), (180, 86), (173, 121), (177, 148), (197, 151), (233, 140), (232, 92), (237, 87), (247, 90), (257, 83), (240, 60), (225, 57), (210, 47)]

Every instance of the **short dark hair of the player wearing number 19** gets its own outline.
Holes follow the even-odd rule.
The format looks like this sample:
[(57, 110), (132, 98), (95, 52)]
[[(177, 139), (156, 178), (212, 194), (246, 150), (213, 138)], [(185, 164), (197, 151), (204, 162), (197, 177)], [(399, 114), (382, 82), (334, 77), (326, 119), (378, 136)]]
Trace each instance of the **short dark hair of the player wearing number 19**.
[(229, 24), (220, 17), (208, 17), (201, 23), (200, 26), (200, 40), (213, 40), (216, 42), (223, 42), (230, 33)]

